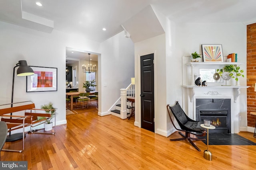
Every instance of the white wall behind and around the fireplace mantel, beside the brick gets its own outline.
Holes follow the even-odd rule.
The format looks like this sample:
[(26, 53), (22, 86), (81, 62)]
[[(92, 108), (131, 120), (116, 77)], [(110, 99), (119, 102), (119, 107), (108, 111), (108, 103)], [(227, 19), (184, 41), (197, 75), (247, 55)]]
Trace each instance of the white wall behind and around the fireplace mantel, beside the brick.
[[(190, 55), (197, 51), (202, 54), (202, 44), (222, 44), (223, 54), (237, 53), (239, 62), (245, 63), (240, 67), (245, 71), (246, 76), (246, 25), (242, 23), (175, 23), (171, 24), (171, 30), (175, 34), (175, 53), (166, 56), (166, 74), (177, 76), (175, 82), (167, 82), (167, 103), (174, 105), (174, 100), (179, 100), (181, 106), (186, 110), (188, 104), (182, 103), (181, 94), (174, 93), (168, 88), (176, 88), (177, 92), (182, 92), (182, 56)], [(167, 40), (168, 41), (168, 40)], [(174, 59), (178, 58), (178, 59)], [(174, 60), (172, 60), (174, 59)], [(173, 63), (175, 61), (175, 63)], [(174, 71), (175, 70), (175, 71)], [(174, 75), (173, 75), (174, 74)], [(246, 78), (239, 77), (240, 85), (246, 86)], [(178, 86), (176, 85), (178, 84)], [(247, 127), (246, 117), (246, 89), (241, 89), (241, 94), (236, 104), (240, 104), (240, 129)]]

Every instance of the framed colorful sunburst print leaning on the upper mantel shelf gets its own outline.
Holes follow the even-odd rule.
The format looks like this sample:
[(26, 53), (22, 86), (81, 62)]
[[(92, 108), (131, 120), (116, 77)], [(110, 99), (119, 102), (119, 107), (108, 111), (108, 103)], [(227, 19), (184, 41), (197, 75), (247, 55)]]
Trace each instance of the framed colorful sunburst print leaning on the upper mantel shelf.
[(202, 44), (204, 62), (224, 62), (221, 44)]

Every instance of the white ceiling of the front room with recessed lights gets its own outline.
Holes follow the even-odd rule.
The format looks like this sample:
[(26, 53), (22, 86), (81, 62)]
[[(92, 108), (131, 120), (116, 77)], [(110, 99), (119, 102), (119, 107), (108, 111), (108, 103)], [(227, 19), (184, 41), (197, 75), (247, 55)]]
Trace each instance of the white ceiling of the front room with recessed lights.
[(152, 11), (174, 22), (214, 23), (256, 21), (255, 9), (256, 0), (0, 0), (0, 21), (46, 33), (82, 34), (98, 42), (125, 28), (133, 41), (140, 41), (148, 33), (142, 22), (160, 25)]

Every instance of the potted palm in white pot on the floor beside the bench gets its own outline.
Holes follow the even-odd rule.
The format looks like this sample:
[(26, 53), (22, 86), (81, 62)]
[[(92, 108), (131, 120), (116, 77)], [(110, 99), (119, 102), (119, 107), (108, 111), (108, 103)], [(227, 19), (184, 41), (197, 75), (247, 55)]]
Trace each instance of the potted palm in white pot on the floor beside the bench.
[[(53, 107), (52, 102), (49, 102), (48, 104), (41, 105), (41, 109), (45, 109), (45, 112), (51, 115), (51, 117), (47, 119), (46, 123), (44, 123), (44, 130), (50, 131), (52, 130), (52, 124), (53, 124), (51, 120), (56, 114), (56, 108)], [(38, 117), (38, 120), (43, 120), (43, 119), (46, 119), (46, 117)]]

